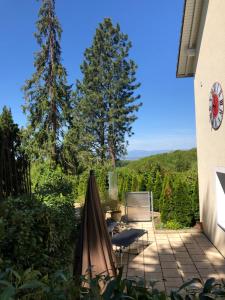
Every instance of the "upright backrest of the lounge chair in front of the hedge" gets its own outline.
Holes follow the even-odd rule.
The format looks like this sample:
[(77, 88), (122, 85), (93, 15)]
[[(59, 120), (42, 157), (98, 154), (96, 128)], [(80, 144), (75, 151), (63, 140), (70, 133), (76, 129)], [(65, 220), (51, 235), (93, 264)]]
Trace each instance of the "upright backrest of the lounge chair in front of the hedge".
[(149, 192), (129, 192), (125, 196), (128, 222), (151, 220), (151, 203)]

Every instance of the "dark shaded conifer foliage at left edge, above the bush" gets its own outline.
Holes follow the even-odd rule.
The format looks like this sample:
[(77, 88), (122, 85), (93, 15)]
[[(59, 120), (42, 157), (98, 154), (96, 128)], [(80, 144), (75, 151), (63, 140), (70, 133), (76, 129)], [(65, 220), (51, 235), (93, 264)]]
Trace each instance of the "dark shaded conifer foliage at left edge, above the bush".
[(29, 163), (21, 148), (18, 125), (11, 110), (0, 114), (0, 200), (30, 192)]

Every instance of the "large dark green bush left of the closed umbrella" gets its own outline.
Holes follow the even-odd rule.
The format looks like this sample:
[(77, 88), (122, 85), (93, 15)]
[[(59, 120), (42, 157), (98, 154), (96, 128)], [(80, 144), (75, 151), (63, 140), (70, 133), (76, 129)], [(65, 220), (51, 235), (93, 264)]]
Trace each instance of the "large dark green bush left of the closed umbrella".
[(21, 269), (33, 266), (43, 273), (68, 267), (75, 231), (74, 207), (64, 197), (54, 200), (44, 203), (20, 197), (0, 204), (3, 261)]

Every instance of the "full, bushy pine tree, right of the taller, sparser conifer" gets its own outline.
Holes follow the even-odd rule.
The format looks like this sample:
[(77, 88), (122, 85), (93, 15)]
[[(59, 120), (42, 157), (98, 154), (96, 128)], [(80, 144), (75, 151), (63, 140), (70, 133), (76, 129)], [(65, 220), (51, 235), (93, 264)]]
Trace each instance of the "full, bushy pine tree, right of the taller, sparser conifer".
[(82, 81), (77, 82), (78, 111), (86, 131), (93, 138), (93, 151), (102, 164), (112, 166), (126, 152), (126, 135), (132, 135), (132, 123), (141, 103), (135, 90), (137, 66), (129, 59), (131, 42), (104, 19), (96, 30), (93, 44), (84, 53)]

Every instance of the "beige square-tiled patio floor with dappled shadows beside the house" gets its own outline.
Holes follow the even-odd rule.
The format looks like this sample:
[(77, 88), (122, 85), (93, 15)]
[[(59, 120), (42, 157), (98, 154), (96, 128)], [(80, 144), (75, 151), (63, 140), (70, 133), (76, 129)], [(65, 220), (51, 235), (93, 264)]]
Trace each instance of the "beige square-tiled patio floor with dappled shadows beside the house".
[(124, 254), (124, 277), (159, 280), (156, 287), (167, 292), (193, 277), (225, 278), (224, 257), (203, 233), (155, 233), (146, 222), (131, 226), (148, 230), (150, 245), (143, 236), (139, 255)]

